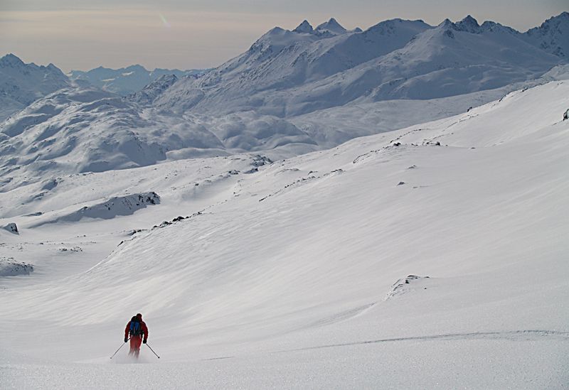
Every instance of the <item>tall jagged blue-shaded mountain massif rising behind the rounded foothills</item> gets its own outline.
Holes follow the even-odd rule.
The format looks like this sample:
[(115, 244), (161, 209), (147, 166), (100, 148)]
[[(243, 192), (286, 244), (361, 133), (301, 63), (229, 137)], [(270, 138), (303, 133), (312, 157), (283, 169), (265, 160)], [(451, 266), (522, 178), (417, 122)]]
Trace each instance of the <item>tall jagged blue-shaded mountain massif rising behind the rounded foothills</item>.
[[(555, 24), (555, 37), (569, 34), (565, 25)], [(174, 112), (255, 110), (291, 117), (358, 99), (489, 90), (566, 62), (529, 43), (528, 35), (491, 21), (481, 26), (471, 16), (436, 27), (400, 19), (361, 32), (344, 31), (334, 19), (321, 26), (304, 21), (293, 31), (274, 28), (248, 52), (198, 80), (177, 82), (154, 104)]]

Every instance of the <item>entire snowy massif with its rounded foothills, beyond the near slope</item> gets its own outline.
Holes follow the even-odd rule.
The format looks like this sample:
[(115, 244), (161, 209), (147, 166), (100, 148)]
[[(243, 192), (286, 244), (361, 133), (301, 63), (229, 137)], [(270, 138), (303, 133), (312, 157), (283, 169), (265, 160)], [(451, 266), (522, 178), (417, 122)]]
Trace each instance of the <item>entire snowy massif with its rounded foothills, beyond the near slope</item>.
[(562, 58), (472, 17), (339, 26), (274, 28), (199, 79), (162, 75), (122, 99), (80, 86), (43, 97), (0, 123), (0, 185), (245, 151), (289, 158), (566, 75)]

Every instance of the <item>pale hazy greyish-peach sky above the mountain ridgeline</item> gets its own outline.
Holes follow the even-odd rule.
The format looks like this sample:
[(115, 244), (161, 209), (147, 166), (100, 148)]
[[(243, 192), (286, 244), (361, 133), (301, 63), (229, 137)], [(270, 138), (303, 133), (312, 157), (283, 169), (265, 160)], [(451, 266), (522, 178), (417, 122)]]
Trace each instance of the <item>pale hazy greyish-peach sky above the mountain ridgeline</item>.
[(437, 25), (468, 14), (519, 31), (569, 11), (567, 0), (0, 0), (0, 57), (64, 72), (141, 64), (215, 67), (275, 26), (334, 17), (366, 29), (390, 18)]

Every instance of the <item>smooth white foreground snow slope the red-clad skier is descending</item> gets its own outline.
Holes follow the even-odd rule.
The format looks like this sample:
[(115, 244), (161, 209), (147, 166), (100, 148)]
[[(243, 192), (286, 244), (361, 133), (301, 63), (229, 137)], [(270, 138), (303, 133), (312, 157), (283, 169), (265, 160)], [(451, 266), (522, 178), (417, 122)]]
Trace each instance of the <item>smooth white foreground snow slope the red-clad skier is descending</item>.
[[(0, 232), (6, 256), (34, 271), (0, 279), (0, 385), (563, 388), (568, 96), (550, 82), (265, 165), (65, 176), (41, 200), (160, 195), (112, 220), (33, 227), (31, 203), (4, 207), (0, 224), (20, 228)], [(0, 205), (28, 188), (14, 191)], [(161, 359), (110, 361), (137, 312)]]

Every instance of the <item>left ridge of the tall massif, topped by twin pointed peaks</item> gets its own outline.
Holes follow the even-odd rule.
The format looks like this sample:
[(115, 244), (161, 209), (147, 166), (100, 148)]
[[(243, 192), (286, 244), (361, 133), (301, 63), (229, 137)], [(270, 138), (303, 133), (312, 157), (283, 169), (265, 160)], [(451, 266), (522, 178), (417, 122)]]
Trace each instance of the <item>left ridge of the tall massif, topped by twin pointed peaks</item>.
[[(336, 21), (329, 21), (324, 26), (336, 25)], [(307, 21), (293, 31), (273, 28), (243, 55), (198, 80), (181, 80), (155, 104), (177, 112), (208, 111), (211, 107), (216, 107), (217, 112), (260, 109), (264, 114), (282, 117), (287, 114), (287, 100), (299, 98), (299, 88), (403, 48), (428, 28), (422, 21), (400, 19), (378, 23), (359, 33), (319, 33)], [(270, 102), (275, 92), (289, 98)], [(334, 97), (329, 100), (334, 104)]]

